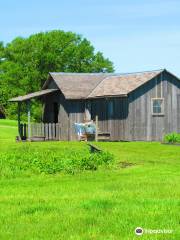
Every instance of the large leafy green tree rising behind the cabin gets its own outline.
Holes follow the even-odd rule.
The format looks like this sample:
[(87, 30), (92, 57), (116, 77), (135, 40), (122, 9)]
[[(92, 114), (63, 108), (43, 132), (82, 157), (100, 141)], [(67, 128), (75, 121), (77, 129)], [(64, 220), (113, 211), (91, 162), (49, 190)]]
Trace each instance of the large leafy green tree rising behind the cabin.
[[(16, 116), (11, 97), (39, 90), (48, 72), (113, 72), (112, 62), (95, 53), (91, 43), (72, 32), (51, 31), (0, 43), (0, 102), (8, 117)], [(34, 117), (39, 111), (34, 107)]]

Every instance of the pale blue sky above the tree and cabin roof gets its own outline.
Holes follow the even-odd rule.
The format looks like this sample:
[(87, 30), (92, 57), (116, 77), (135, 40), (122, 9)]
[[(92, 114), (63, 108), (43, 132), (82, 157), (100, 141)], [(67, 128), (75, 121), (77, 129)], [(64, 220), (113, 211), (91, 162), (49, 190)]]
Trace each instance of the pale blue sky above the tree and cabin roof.
[(0, 41), (62, 29), (89, 39), (116, 72), (180, 77), (180, 0), (1, 0)]

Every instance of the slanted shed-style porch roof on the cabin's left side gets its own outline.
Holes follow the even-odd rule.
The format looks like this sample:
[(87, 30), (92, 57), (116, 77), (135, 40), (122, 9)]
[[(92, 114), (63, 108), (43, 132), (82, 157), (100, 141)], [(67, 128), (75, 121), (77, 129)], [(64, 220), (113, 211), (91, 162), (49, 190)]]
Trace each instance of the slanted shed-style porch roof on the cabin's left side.
[(31, 98), (41, 97), (43, 95), (47, 95), (47, 94), (55, 92), (55, 91), (59, 91), (59, 89), (45, 89), (45, 90), (41, 90), (41, 91), (38, 91), (38, 92), (29, 93), (29, 94), (24, 95), (24, 96), (11, 98), (9, 101), (10, 102), (24, 102), (24, 101), (27, 101)]

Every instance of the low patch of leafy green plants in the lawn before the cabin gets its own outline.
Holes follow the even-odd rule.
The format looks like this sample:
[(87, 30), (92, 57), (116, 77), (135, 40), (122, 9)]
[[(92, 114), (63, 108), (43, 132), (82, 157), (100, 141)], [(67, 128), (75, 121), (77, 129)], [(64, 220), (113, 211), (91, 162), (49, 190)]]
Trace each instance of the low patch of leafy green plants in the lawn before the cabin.
[(108, 166), (112, 161), (113, 155), (108, 152), (90, 153), (88, 149), (78, 151), (67, 148), (61, 151), (32, 151), (32, 148), (23, 147), (0, 154), (0, 176), (18, 176), (22, 172), (74, 174), (83, 170), (97, 170), (99, 166)]

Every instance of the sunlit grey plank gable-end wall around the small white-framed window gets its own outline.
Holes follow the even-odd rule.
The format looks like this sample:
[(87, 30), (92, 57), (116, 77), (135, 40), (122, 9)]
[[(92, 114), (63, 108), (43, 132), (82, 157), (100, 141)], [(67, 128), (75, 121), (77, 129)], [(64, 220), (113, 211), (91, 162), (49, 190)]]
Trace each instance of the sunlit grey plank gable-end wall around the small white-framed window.
[[(180, 81), (167, 72), (132, 92), (125, 140), (161, 141), (166, 133), (179, 132), (179, 94)], [(164, 98), (164, 115), (152, 115), (151, 99), (156, 97)]]

